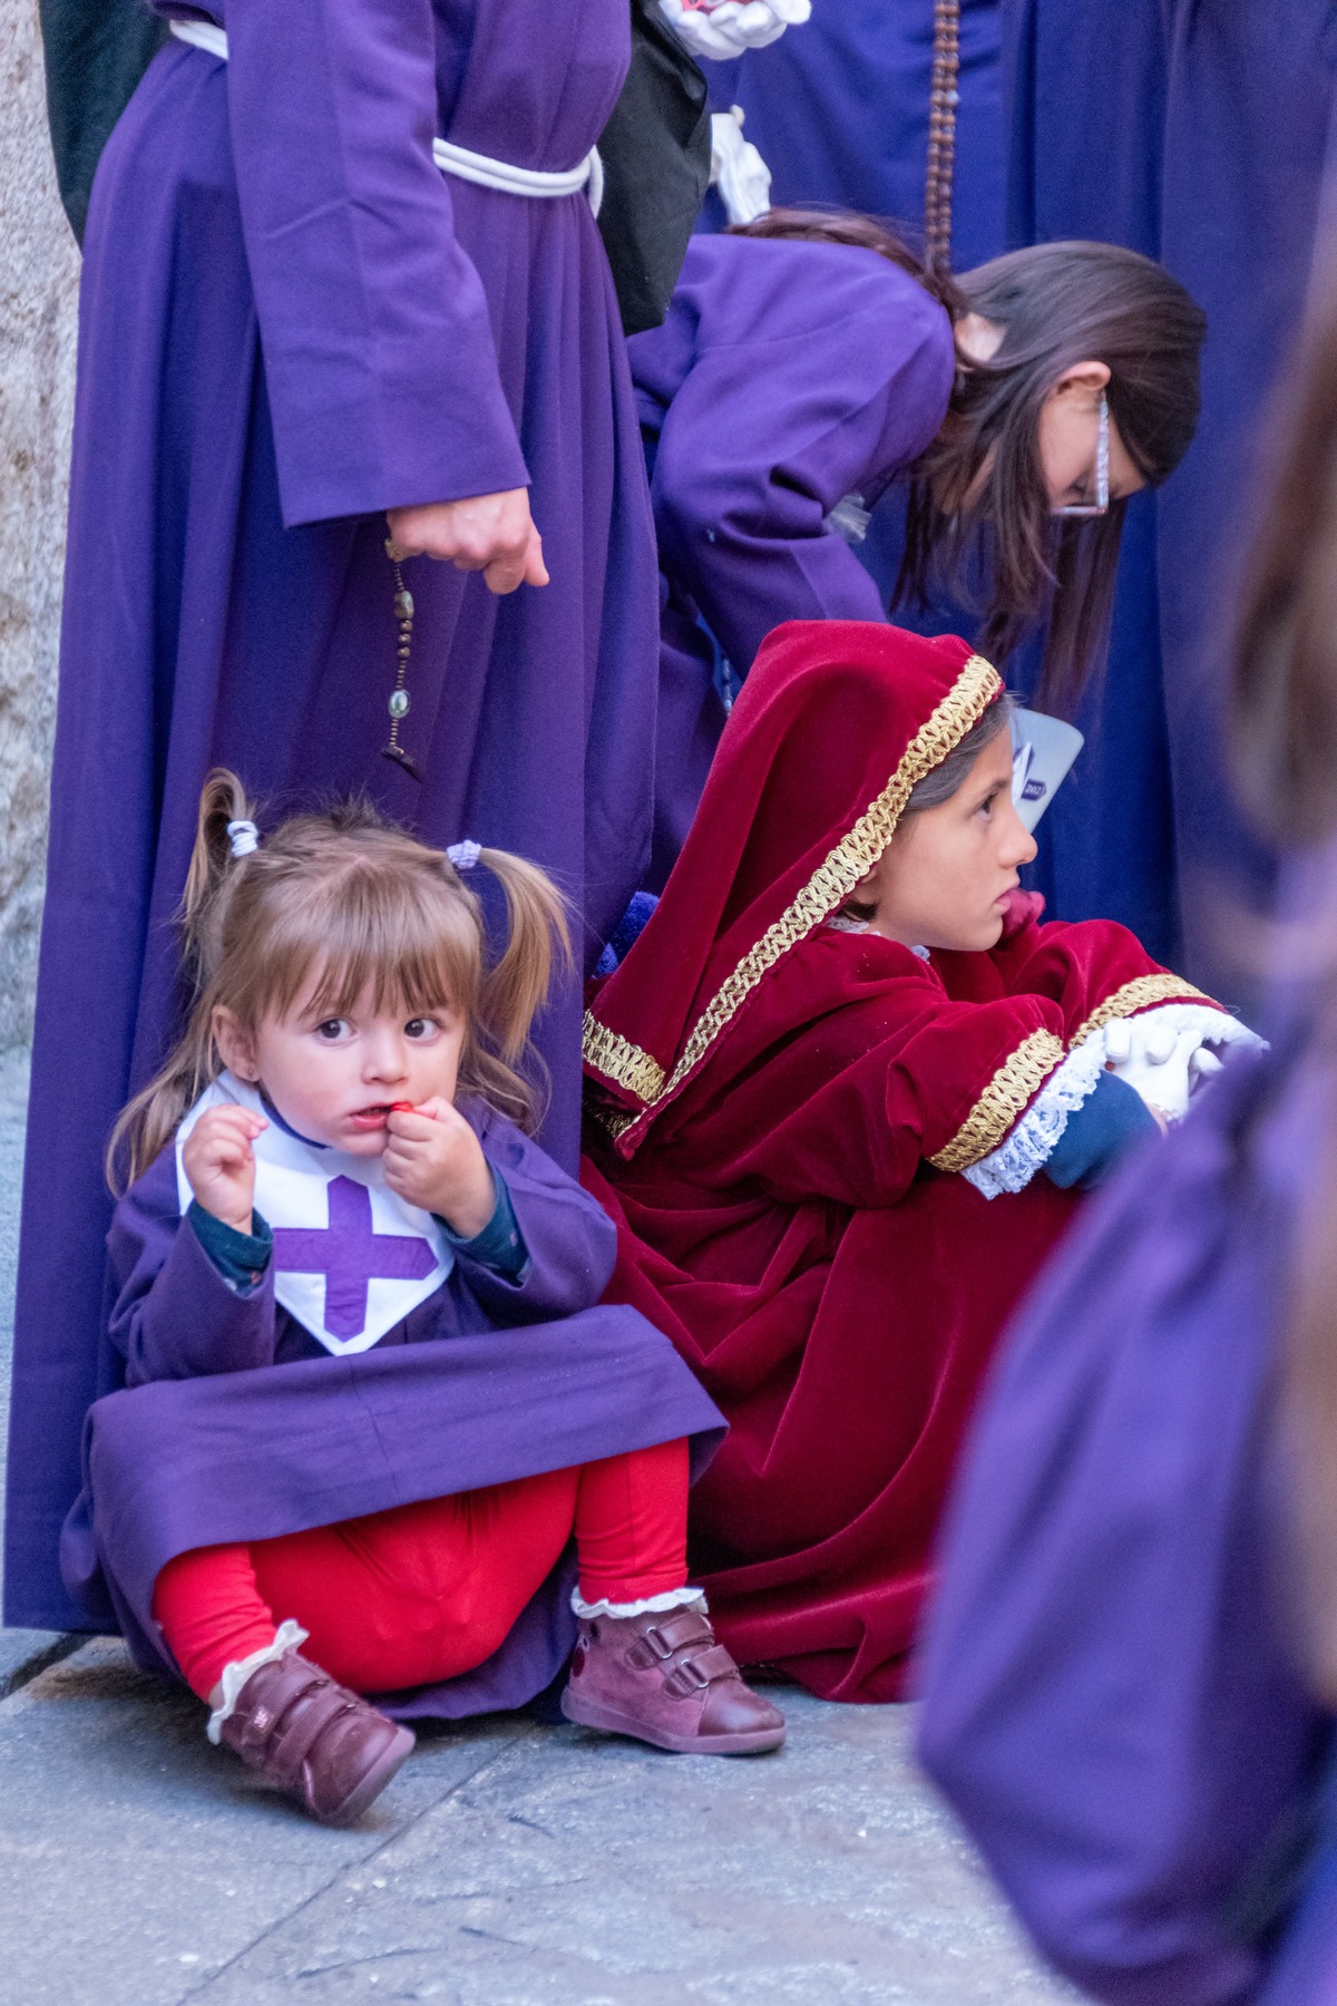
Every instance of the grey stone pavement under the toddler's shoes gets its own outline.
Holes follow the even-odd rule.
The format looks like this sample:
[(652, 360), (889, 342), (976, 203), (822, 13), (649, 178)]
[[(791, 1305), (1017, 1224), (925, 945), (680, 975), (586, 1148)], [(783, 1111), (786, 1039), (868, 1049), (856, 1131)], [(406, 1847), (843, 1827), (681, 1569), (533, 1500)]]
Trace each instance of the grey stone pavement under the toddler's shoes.
[[(22, 1081), (0, 1059), (6, 1326)], [(10, 1677), (56, 1643), (6, 1633)], [(429, 1729), (357, 1831), (323, 1831), (188, 1695), (84, 1643), (0, 1703), (0, 2006), (1070, 2000), (916, 1777), (912, 1711), (780, 1697), (790, 1743), (750, 1761)]]

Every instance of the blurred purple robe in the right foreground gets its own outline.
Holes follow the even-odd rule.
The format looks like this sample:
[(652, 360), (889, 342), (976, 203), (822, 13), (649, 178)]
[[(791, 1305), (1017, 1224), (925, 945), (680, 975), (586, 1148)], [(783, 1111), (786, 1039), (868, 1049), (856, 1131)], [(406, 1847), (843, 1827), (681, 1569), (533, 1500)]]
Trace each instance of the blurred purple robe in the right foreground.
[(1155, 1176), (1139, 1159), (1092, 1208), (946, 1525), (922, 1757), (1044, 1954), (1115, 2006), (1257, 1998), (1267, 1946), (1231, 1918), (1331, 1731), (1297, 1669), (1271, 1426), (1329, 1107), (1313, 1061), (1237, 1059)]

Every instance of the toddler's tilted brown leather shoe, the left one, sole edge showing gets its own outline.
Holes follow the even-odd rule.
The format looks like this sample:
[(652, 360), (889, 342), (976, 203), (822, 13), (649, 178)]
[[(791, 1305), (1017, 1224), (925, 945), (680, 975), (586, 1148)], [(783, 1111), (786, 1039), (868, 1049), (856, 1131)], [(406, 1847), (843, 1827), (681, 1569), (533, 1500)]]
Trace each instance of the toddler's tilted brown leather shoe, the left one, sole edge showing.
[(251, 1673), (218, 1739), (323, 1825), (355, 1823), (413, 1747), (407, 1727), (297, 1651)]

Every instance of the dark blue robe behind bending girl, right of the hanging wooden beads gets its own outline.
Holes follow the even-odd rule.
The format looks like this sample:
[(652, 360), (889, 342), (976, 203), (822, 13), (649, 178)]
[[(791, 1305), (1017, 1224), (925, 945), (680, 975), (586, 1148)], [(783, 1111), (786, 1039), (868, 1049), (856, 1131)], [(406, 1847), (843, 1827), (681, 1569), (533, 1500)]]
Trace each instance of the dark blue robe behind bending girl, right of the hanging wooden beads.
[(1221, 893), (1271, 861), (1231, 808), (1229, 608), (1269, 399), (1305, 303), (1337, 16), (1327, 0), (1004, 0), (1008, 237), (1096, 237), (1159, 257), (1207, 311), (1203, 421), (1129, 508), (1108, 672), (1086, 752), (1044, 824), (1064, 919), (1125, 921), (1215, 995), (1241, 995)]

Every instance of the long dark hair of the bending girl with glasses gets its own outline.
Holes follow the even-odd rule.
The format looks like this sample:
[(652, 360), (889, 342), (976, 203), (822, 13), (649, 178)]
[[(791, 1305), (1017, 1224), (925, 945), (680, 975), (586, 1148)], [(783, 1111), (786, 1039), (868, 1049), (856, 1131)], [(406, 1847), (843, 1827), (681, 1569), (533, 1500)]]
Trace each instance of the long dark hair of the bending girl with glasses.
[(1161, 265), (1121, 245), (1030, 245), (950, 277), (930, 271), (872, 217), (778, 209), (736, 235), (878, 251), (918, 279), (954, 323), (978, 313), (1002, 329), (988, 361), (958, 357), (946, 421), (910, 473), (892, 606), (922, 606), (938, 576), (972, 600), (984, 560), (990, 588), (980, 652), (1004, 660), (1048, 620), (1036, 694), (1070, 710), (1104, 654), (1125, 504), (1084, 520), (1052, 514), (1040, 409), (1064, 371), (1106, 363), (1110, 419), (1133, 465), (1157, 487), (1197, 429), (1203, 311)]

